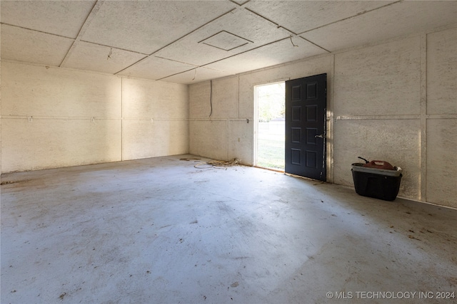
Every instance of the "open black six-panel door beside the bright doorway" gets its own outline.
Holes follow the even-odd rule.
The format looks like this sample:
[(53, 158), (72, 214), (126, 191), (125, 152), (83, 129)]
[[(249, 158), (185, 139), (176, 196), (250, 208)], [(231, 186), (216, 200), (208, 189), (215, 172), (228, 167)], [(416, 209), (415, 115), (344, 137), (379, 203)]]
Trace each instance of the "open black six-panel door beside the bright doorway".
[(326, 181), (327, 74), (286, 81), (285, 172)]

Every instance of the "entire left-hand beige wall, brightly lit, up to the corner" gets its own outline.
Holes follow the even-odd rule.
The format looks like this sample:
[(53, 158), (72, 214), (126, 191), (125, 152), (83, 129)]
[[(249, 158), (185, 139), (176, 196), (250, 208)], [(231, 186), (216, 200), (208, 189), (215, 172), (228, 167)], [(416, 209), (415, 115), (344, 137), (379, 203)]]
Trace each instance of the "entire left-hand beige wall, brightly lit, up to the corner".
[(7, 61), (1, 72), (2, 172), (189, 149), (186, 85)]

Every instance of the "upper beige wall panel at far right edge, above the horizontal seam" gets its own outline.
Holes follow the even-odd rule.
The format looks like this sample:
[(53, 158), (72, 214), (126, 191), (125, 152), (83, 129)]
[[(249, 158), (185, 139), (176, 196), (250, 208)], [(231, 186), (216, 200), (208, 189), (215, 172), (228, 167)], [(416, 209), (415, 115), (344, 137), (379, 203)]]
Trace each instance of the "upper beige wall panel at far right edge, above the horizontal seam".
[(457, 28), (427, 35), (427, 114), (457, 114)]

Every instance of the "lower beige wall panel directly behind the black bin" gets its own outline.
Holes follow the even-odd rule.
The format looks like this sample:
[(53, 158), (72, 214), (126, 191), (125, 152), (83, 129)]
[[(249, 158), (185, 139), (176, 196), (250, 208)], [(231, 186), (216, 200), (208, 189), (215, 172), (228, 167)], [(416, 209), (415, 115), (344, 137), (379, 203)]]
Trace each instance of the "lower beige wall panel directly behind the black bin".
[(419, 199), (419, 120), (338, 120), (334, 125), (336, 184), (353, 185), (351, 164), (384, 160), (403, 169), (399, 196)]

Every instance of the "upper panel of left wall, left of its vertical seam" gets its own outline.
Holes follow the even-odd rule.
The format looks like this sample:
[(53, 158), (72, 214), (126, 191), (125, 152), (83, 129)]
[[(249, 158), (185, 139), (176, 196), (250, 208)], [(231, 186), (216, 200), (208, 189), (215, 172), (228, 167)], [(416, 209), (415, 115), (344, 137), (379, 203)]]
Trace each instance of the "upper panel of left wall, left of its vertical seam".
[(2, 62), (1, 114), (120, 117), (121, 78)]

